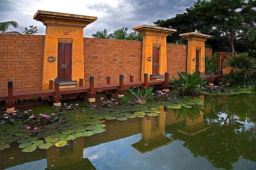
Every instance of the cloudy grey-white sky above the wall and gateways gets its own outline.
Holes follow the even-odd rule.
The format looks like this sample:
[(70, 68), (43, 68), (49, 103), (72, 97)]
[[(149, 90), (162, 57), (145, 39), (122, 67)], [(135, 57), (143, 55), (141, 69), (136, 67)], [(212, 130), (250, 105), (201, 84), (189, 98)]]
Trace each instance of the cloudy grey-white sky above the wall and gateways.
[(84, 36), (104, 28), (109, 33), (127, 27), (153, 25), (157, 19), (167, 19), (185, 12), (195, 0), (0, 0), (0, 21), (15, 20), (19, 32), (30, 25), (38, 34), (45, 34), (45, 26), (33, 20), (37, 10), (96, 16), (98, 19), (84, 29)]

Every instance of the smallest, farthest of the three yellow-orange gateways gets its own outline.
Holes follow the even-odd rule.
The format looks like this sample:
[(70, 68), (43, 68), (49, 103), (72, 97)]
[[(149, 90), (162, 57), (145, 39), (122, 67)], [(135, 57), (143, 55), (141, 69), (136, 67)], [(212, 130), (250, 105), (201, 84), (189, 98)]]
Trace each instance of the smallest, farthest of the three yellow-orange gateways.
[[(187, 72), (190, 74), (195, 71), (205, 73), (205, 41), (212, 38), (212, 36), (200, 33), (184, 33), (180, 36), (188, 40)], [(198, 70), (196, 70), (196, 64), (198, 64)]]

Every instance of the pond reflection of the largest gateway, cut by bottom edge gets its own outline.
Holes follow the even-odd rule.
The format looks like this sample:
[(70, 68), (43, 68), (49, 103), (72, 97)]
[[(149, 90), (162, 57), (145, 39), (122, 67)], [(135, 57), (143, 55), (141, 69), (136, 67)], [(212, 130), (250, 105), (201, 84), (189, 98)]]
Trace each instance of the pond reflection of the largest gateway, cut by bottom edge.
[(61, 148), (46, 150), (47, 170), (96, 169), (88, 158), (83, 158), (83, 137), (76, 138)]

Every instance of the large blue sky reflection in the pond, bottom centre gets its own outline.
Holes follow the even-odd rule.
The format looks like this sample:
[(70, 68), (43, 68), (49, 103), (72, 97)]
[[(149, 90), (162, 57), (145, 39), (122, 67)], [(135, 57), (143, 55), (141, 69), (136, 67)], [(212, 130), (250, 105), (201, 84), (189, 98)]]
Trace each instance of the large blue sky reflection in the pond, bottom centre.
[(89, 158), (99, 169), (216, 169), (203, 157), (193, 157), (183, 147), (183, 141), (176, 140), (156, 150), (141, 154), (131, 144), (138, 142), (141, 134), (103, 143), (83, 150), (83, 157)]

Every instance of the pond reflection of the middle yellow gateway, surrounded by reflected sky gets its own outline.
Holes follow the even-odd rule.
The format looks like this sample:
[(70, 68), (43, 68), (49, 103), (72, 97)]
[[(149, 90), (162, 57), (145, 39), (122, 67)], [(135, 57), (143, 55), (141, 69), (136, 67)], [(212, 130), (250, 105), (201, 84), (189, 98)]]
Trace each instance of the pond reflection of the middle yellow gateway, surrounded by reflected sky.
[(132, 147), (142, 154), (173, 142), (164, 135), (165, 112), (163, 109), (160, 111), (159, 116), (141, 118), (142, 139), (132, 144)]

